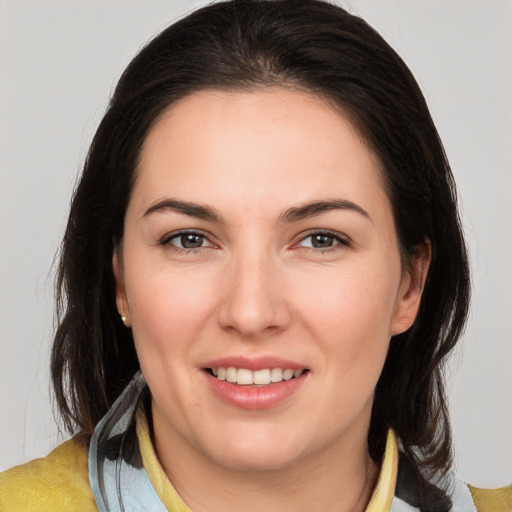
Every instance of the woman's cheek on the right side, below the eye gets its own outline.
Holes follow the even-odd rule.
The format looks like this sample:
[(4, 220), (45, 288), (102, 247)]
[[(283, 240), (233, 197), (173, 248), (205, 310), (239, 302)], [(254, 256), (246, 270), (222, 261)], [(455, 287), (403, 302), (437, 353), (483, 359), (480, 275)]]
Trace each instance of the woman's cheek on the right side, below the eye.
[(296, 280), (297, 316), (326, 353), (343, 364), (343, 371), (360, 371), (366, 363), (373, 371), (386, 357), (399, 270), (386, 271), (369, 265)]

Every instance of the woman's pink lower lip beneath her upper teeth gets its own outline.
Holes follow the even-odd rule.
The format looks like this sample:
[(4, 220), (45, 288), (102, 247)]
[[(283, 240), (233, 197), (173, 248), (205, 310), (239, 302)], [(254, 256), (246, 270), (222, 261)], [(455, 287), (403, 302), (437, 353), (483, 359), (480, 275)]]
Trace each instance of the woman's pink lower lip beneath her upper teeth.
[(210, 388), (219, 398), (235, 407), (252, 410), (268, 409), (284, 402), (300, 389), (308, 374), (268, 386), (240, 386), (205, 372)]

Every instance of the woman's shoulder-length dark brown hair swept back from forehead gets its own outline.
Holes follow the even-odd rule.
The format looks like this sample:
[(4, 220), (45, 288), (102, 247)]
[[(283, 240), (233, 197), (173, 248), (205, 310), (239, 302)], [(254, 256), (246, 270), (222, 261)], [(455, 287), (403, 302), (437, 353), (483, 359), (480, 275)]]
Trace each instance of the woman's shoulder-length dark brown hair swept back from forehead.
[(412, 74), (365, 21), (317, 0), (235, 0), (164, 30), (122, 75), (92, 142), (64, 236), (52, 379), (70, 430), (92, 432), (139, 364), (115, 306), (112, 254), (141, 146), (173, 102), (206, 88), (293, 87), (347, 113), (378, 158), (405, 265), (429, 240), (420, 311), (375, 391), (370, 451), (391, 426), (423, 473), (451, 463), (443, 363), (469, 302), (465, 244), (443, 146)]

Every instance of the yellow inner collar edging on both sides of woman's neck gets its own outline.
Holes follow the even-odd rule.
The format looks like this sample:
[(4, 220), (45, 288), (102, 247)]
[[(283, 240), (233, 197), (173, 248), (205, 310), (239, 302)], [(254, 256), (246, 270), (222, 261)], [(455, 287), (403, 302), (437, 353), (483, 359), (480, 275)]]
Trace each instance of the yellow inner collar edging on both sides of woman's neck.
[[(173, 512), (192, 512), (164, 473), (151, 443), (146, 416), (141, 410), (137, 413), (137, 437), (144, 469), (162, 503)], [(389, 511), (395, 494), (397, 468), (398, 445), (395, 433), (389, 429), (379, 479), (366, 512)]]

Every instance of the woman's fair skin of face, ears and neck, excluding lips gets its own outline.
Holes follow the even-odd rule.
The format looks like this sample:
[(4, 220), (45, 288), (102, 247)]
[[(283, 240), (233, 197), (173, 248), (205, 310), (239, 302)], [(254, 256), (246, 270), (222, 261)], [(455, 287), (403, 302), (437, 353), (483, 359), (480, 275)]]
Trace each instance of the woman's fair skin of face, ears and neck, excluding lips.
[[(169, 198), (219, 218), (155, 206)], [(283, 219), (333, 200), (350, 207)], [(200, 247), (182, 248), (180, 230)], [(143, 146), (113, 265), (155, 448), (192, 510), (364, 510), (373, 391), (428, 255), (402, 268), (378, 162), (345, 116), (278, 88), (174, 104)], [(309, 371), (291, 397), (247, 410), (206, 383), (205, 363), (233, 355)]]

